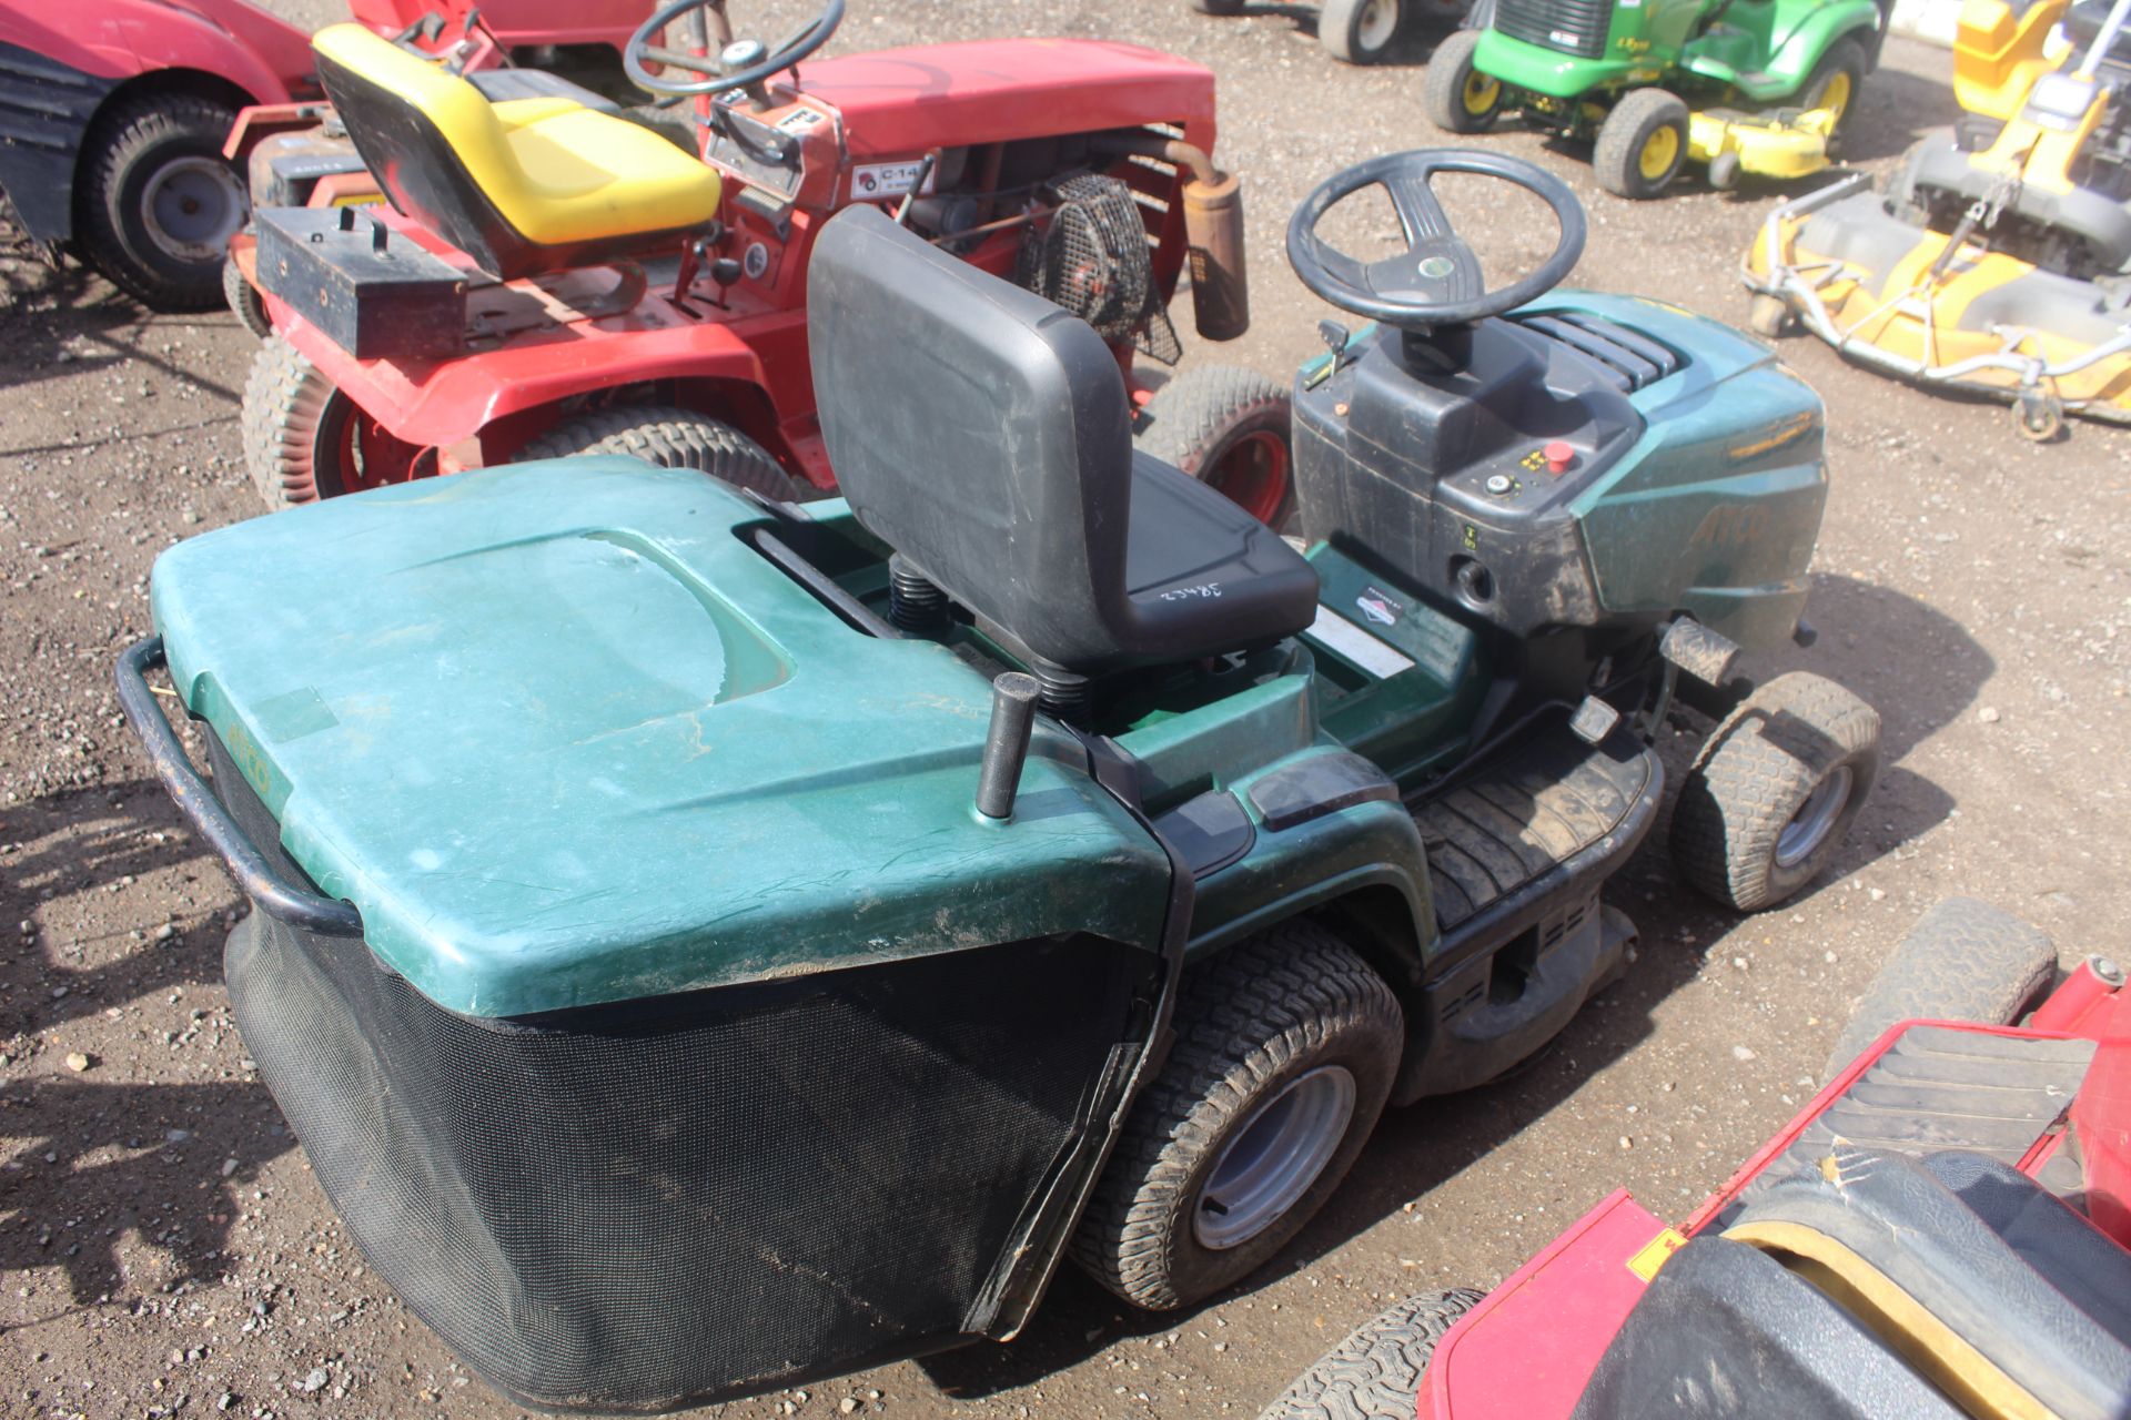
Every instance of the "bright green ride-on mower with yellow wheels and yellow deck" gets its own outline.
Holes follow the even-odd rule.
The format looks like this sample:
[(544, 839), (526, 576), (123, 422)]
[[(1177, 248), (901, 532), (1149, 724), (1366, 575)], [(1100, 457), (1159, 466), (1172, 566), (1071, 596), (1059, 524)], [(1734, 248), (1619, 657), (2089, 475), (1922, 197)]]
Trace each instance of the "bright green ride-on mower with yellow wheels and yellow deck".
[(1453, 134), (1519, 111), (1592, 143), (1620, 198), (1656, 198), (1688, 160), (1728, 189), (1826, 168), (1884, 36), (1882, 0), (1481, 0), (1424, 104)]

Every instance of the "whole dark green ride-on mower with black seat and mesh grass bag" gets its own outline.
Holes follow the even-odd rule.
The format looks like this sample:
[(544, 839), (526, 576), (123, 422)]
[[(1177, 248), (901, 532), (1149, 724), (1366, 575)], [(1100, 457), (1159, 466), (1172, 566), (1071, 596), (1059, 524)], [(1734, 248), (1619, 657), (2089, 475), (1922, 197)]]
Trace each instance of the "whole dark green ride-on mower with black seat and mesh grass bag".
[[(1436, 170), (1541, 194), (1553, 255), (1481, 290)], [(1315, 226), (1374, 183), (1413, 253), (1364, 268)], [(1012, 1337), (1066, 1256), (1189, 1305), (1624, 969), (1690, 681), (1735, 709), (1686, 875), (1799, 890), (1877, 717), (1730, 660), (1803, 626), (1820, 400), (1549, 294), (1583, 230), (1490, 153), (1308, 200), (1296, 270), (1377, 324), (1298, 381), (1306, 551), (1134, 451), (1085, 321), (872, 207), (808, 273), (842, 500), (575, 458), (166, 551), (121, 700), (377, 1273), (558, 1409)]]

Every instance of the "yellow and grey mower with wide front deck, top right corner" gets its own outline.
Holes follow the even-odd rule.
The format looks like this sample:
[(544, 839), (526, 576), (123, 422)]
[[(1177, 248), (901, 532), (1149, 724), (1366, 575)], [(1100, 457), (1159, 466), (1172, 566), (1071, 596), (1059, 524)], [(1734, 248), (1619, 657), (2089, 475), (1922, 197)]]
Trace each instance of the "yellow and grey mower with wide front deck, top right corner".
[[(1926, 385), (2012, 400), (2020, 430), (2131, 424), (2131, 0), (1967, 0), (1965, 115), (1871, 192), (1775, 209), (1745, 262), (1750, 324), (1792, 321)], [(2056, 34), (2065, 38), (2056, 38)]]

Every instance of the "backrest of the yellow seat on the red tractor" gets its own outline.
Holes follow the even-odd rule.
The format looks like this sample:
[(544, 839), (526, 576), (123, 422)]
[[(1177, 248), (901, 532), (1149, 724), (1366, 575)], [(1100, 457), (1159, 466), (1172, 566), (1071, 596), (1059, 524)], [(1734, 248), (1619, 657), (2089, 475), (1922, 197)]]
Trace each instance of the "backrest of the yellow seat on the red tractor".
[(326, 26), (311, 51), (386, 200), (503, 275), (522, 236), (488, 192), (505, 192), (518, 164), (482, 92), (362, 26)]

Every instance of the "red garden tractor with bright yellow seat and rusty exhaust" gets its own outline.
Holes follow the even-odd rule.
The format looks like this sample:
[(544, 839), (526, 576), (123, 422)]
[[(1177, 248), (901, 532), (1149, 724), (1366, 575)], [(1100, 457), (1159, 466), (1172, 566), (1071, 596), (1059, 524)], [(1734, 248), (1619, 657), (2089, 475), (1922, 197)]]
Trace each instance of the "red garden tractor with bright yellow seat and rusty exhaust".
[[(531, 70), (450, 75), (341, 26), (315, 40), (339, 123), (390, 207), (262, 209), (234, 262), (273, 334), (245, 387), (269, 505), (484, 464), (635, 453), (774, 498), (835, 488), (808, 370), (823, 221), (878, 204), (1085, 317), (1132, 370), (1249, 324), (1242, 207), (1215, 170), (1215, 79), (1089, 40), (972, 40), (808, 62), (842, 0), (769, 49), (722, 0), (631, 36), (631, 79), (693, 121)], [(667, 47), (671, 36), (701, 34)], [(716, 57), (705, 57), (716, 51)], [(656, 70), (656, 72), (654, 72)], [(658, 128), (669, 128), (658, 123)], [(1142, 447), (1279, 524), (1289, 396), (1195, 368), (1142, 404)]]

